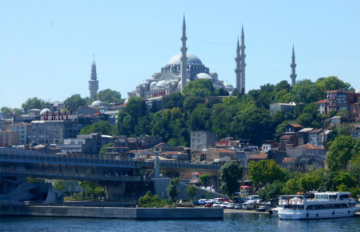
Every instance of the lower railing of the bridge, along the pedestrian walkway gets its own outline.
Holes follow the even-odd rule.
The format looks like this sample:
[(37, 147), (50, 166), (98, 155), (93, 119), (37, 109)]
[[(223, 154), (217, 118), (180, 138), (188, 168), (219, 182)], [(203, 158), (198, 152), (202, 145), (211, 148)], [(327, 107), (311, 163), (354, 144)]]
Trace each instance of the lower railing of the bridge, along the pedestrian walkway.
[(84, 179), (84, 180), (111, 180), (111, 181), (151, 181), (146, 176), (122, 176), (122, 175), (105, 175), (105, 174), (92, 174), (92, 173), (78, 173), (78, 172), (59, 172), (59, 171), (45, 171), (45, 170), (31, 170), (31, 169), (18, 169), (18, 168), (0, 168), (2, 175), (24, 175), (24, 176), (37, 176), (46, 177), (58, 177), (63, 179)]

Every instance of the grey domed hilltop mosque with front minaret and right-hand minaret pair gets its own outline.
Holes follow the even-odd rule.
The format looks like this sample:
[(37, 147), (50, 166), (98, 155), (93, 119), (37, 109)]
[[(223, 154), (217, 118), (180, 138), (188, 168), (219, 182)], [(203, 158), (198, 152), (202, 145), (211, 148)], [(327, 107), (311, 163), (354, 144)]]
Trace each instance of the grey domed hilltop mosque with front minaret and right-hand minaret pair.
[[(244, 32), (242, 30), (242, 44), (243, 34)], [(210, 68), (206, 67), (199, 57), (192, 53), (186, 52), (188, 49), (186, 47), (186, 40), (187, 37), (184, 16), (183, 34), (181, 37), (182, 47), (180, 48), (181, 53), (171, 57), (165, 67), (162, 67), (160, 69), (161, 71), (155, 71), (151, 78), (146, 79), (145, 82), (139, 83), (135, 87), (135, 90), (128, 92), (127, 98), (129, 99), (132, 96), (140, 96), (144, 99), (152, 100), (153, 98), (157, 98), (158, 96), (168, 95), (177, 91), (182, 91), (188, 82), (197, 79), (211, 80), (212, 85), (216, 90), (223, 88), (230, 93), (233, 92), (235, 89), (233, 85), (228, 82), (224, 83), (224, 81), (219, 80), (217, 73), (213, 70), (210, 71)], [(243, 77), (245, 77), (245, 65), (244, 63), (241, 63), (242, 61), (244, 62), (244, 59), (242, 60), (242, 57), (245, 58), (245, 55), (243, 53), (245, 46), (243, 46), (243, 49), (240, 49), (239, 39), (237, 47), (238, 60), (235, 73), (237, 74), (237, 76), (239, 75), (239, 82), (241, 83), (240, 79), (242, 72)], [(240, 54), (240, 51), (242, 52), (242, 54)], [(245, 78), (243, 79), (243, 83), (245, 85)]]

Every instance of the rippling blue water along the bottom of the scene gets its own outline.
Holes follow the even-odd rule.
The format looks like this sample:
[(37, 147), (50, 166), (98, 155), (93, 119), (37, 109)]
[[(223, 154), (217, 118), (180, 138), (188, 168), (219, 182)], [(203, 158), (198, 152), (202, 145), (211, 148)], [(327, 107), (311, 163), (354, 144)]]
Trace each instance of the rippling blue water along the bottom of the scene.
[(309, 221), (280, 220), (269, 214), (226, 213), (224, 219), (134, 220), (98, 218), (1, 217), (1, 232), (264, 231), (358, 232), (360, 217)]

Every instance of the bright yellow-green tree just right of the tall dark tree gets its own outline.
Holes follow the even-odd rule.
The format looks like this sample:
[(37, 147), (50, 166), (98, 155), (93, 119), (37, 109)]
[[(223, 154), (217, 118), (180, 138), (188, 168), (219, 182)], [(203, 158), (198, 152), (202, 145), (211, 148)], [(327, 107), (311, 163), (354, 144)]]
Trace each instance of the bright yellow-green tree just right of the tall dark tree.
[(254, 184), (265, 186), (266, 183), (272, 184), (275, 180), (283, 180), (285, 172), (280, 169), (275, 160), (251, 161), (248, 165), (249, 178)]

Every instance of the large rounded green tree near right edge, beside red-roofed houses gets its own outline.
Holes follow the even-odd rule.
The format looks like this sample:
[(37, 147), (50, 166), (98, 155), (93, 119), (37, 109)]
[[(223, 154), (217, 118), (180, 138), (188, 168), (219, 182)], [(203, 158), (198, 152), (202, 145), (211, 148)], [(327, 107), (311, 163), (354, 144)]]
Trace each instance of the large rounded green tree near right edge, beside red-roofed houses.
[[(355, 146), (355, 139), (352, 136), (341, 135), (335, 138), (329, 148), (326, 157), (327, 165), (332, 171), (347, 170), (347, 164), (356, 151), (352, 151)], [(356, 148), (356, 147), (355, 147)]]

